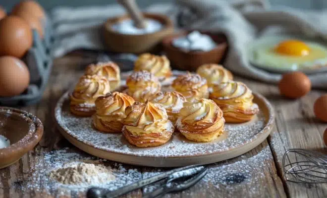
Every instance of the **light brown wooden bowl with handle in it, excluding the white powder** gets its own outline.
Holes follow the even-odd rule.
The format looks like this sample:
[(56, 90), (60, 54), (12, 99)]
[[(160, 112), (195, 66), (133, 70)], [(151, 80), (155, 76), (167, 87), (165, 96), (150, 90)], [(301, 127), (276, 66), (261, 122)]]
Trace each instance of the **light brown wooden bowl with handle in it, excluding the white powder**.
[(110, 51), (126, 53), (155, 52), (160, 50), (160, 44), (163, 38), (170, 35), (174, 26), (172, 21), (165, 15), (143, 13), (145, 18), (151, 18), (160, 21), (164, 27), (162, 30), (150, 34), (129, 35), (114, 31), (113, 24), (130, 19), (129, 15), (119, 16), (108, 19), (104, 24), (104, 39)]

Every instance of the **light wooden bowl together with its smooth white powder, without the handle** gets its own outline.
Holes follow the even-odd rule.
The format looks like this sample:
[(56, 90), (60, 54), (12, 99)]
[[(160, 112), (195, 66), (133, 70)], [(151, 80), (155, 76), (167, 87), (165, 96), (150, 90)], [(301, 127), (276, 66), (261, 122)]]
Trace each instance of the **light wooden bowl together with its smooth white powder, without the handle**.
[(165, 15), (143, 13), (146, 28), (138, 29), (128, 16), (109, 18), (104, 24), (104, 40), (110, 51), (120, 53), (158, 52), (161, 41), (174, 28)]

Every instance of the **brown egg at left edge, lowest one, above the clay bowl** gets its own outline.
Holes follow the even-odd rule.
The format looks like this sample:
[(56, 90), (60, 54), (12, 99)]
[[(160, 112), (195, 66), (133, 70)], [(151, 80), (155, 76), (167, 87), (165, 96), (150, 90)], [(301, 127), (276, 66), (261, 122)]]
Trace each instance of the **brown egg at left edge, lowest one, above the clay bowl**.
[(0, 97), (16, 96), (30, 83), (30, 72), (23, 61), (13, 56), (0, 57)]

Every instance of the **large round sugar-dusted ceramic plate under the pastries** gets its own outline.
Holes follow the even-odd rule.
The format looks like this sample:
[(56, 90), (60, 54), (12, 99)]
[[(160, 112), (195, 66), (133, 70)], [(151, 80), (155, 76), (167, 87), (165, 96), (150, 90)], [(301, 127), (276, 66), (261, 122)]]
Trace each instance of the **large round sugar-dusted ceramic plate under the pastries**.
[(261, 144), (270, 134), (274, 120), (272, 105), (254, 94), (260, 113), (243, 124), (225, 124), (225, 132), (213, 142), (195, 143), (175, 132), (166, 144), (153, 148), (130, 145), (122, 134), (107, 134), (92, 126), (91, 117), (76, 117), (69, 111), (68, 93), (55, 107), (61, 134), (76, 147), (92, 155), (142, 166), (176, 167), (209, 164), (239, 156)]

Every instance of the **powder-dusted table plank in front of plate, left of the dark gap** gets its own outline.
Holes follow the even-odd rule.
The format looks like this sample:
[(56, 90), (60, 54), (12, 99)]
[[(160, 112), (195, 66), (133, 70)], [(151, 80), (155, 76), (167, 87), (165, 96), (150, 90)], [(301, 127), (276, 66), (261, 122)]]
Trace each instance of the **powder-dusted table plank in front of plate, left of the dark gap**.
[[(267, 141), (244, 155), (207, 167), (207, 176), (194, 187), (164, 198), (286, 198)], [(149, 171), (160, 172), (163, 169), (144, 168), (143, 174), (147, 176)], [(150, 189), (153, 190), (152, 187)], [(148, 191), (149, 188), (144, 189), (145, 193)]]

